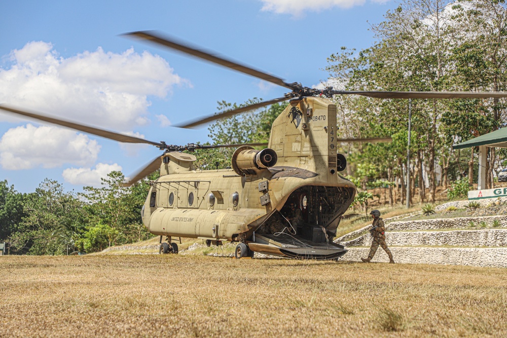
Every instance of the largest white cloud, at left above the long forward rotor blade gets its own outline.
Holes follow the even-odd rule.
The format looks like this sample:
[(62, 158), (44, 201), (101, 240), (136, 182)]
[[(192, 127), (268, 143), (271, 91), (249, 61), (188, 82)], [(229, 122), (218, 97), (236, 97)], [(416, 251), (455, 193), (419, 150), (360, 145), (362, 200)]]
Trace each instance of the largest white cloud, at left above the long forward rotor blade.
[(160, 56), (133, 48), (62, 58), (50, 43), (30, 42), (10, 56), (12, 66), (0, 68), (0, 102), (116, 131), (148, 123), (149, 96), (189, 84)]

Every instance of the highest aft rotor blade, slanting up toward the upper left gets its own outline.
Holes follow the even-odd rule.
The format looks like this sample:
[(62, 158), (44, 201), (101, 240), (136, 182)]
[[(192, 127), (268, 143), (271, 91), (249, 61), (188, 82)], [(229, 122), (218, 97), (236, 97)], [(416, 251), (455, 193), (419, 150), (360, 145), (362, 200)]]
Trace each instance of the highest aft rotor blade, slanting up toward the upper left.
[(291, 90), (295, 90), (295, 89), (299, 88), (297, 84), (286, 83), (282, 79), (272, 76), (270, 74), (267, 74), (261, 70), (251, 68), (249, 66), (240, 64), (239, 62), (236, 62), (236, 61), (228, 60), (224, 57), (218, 56), (217, 54), (212, 54), (209, 51), (197, 48), (195, 46), (191, 46), (190, 44), (182, 42), (182, 41), (178, 41), (178, 40), (174, 39), (173, 37), (162, 36), (160, 33), (157, 33), (155, 31), (136, 31), (136, 32), (131, 32), (131, 33), (125, 33), (123, 35), (135, 36), (135, 37), (138, 37), (139, 39), (148, 40), (153, 43), (183, 52), (185, 54), (195, 56), (197, 58), (200, 58), (200, 59), (212, 62), (212, 63), (220, 64), (221, 66), (234, 69), (236, 71), (239, 71), (239, 72), (248, 74), (250, 76), (259, 78), (261, 80), (268, 81), (268, 82), (274, 83), (274, 84), (282, 86), (282, 87), (286, 87)]

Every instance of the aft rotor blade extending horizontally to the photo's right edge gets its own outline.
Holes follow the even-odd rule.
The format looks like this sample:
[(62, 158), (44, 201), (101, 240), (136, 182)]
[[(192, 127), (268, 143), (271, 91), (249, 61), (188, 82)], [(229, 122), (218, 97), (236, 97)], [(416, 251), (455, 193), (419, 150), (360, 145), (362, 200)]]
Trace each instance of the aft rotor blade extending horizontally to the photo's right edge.
[(455, 99), (455, 98), (501, 98), (507, 92), (385, 92), (333, 90), (335, 95), (362, 95), (381, 99)]

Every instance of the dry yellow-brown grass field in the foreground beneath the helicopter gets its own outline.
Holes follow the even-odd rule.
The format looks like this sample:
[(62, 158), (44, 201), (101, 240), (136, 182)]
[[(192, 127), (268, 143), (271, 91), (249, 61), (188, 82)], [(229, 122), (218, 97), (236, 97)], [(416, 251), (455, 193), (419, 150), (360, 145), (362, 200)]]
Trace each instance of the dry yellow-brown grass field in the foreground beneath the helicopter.
[(505, 269), (96, 255), (0, 272), (0, 337), (507, 336)]

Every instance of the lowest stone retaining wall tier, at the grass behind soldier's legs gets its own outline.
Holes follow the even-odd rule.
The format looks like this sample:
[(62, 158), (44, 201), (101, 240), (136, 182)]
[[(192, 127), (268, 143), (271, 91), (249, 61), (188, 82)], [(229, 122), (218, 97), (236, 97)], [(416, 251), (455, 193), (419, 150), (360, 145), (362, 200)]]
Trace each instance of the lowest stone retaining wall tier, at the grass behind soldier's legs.
[[(507, 268), (506, 248), (390, 248), (396, 263), (467, 265), (474, 267)], [(350, 248), (340, 260), (361, 261), (370, 248)], [(372, 262), (389, 262), (387, 254), (379, 248)]]

